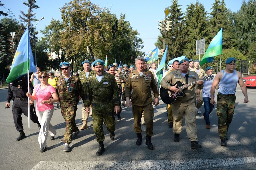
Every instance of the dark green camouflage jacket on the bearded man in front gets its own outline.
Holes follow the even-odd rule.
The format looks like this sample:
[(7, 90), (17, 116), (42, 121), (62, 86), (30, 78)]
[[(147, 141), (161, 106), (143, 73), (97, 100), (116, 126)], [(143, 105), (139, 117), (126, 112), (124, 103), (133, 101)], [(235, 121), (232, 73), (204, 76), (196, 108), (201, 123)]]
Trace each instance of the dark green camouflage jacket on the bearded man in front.
[(118, 87), (113, 75), (105, 72), (105, 76), (101, 82), (96, 79), (96, 74), (89, 79), (87, 98), (84, 100), (84, 105), (100, 106), (103, 103), (113, 101), (115, 105), (120, 105), (118, 95)]

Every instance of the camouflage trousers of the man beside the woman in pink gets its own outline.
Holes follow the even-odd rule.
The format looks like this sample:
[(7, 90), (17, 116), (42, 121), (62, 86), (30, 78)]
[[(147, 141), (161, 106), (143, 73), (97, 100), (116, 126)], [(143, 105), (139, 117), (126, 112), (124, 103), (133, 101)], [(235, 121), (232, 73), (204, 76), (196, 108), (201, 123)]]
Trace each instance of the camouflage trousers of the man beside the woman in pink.
[(63, 136), (63, 143), (71, 143), (72, 134), (78, 130), (76, 126), (76, 110), (77, 106), (63, 107), (61, 106), (61, 114), (66, 121), (66, 130)]

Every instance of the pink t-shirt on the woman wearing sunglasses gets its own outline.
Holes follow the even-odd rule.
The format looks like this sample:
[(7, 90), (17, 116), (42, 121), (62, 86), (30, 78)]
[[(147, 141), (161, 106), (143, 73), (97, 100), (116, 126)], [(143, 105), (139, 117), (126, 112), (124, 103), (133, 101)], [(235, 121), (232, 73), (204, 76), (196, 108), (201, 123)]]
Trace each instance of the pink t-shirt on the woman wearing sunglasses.
[(56, 92), (55, 88), (49, 84), (44, 89), (41, 89), (40, 86), (41, 84), (34, 87), (34, 91), (36, 92), (36, 109), (38, 111), (53, 109), (53, 104), (41, 104), (41, 101), (49, 100), (49, 98), (52, 96), (52, 93)]

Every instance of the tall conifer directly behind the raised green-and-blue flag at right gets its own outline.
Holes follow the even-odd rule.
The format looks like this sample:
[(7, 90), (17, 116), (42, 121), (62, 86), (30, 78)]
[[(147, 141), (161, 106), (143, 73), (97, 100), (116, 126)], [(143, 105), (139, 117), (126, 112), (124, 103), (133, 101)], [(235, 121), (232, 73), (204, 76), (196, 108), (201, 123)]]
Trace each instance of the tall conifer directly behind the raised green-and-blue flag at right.
[(232, 20), (230, 19), (230, 10), (227, 9), (224, 0), (215, 0), (212, 4), (212, 12), (210, 13), (210, 25), (209, 36), (206, 41), (208, 43), (216, 36), (221, 28), (223, 28), (223, 48), (232, 48), (233, 44), (233, 32), (232, 32)]

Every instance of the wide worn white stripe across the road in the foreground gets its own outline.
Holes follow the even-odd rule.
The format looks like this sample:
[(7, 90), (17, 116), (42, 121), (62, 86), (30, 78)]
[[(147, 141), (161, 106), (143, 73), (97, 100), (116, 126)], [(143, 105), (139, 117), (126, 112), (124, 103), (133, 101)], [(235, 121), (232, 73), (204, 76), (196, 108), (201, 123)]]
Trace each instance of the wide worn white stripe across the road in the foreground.
[(128, 160), (128, 161), (40, 161), (32, 170), (63, 169), (213, 169), (255, 163), (256, 157), (218, 158), (218, 159), (174, 159), (174, 160)]

